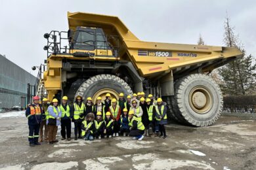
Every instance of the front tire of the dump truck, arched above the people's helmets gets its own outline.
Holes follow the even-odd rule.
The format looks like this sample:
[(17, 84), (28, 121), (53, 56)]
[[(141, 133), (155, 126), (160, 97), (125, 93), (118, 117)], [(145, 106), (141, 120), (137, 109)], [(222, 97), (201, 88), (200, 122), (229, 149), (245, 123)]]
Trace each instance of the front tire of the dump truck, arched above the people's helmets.
[(125, 93), (125, 95), (133, 93), (131, 87), (123, 79), (115, 75), (103, 74), (85, 80), (78, 88), (75, 96), (81, 95), (83, 99), (85, 97), (93, 97), (96, 92), (102, 89), (111, 89), (117, 93)]

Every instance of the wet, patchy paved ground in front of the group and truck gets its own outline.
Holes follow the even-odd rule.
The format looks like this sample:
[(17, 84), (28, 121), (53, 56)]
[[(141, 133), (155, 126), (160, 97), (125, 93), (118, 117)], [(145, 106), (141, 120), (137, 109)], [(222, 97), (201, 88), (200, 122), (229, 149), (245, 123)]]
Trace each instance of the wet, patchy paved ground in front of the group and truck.
[(0, 169), (256, 169), (255, 122), (222, 116), (209, 127), (169, 124), (167, 139), (72, 139), (30, 147), (24, 112), (0, 114)]

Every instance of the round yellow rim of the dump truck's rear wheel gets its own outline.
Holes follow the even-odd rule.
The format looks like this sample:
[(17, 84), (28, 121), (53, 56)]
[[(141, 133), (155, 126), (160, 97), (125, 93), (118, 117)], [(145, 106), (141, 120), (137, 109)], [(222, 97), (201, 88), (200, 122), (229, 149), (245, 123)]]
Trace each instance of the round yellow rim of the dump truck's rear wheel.
[(196, 113), (205, 114), (213, 106), (213, 95), (207, 88), (196, 86), (190, 91), (189, 104)]

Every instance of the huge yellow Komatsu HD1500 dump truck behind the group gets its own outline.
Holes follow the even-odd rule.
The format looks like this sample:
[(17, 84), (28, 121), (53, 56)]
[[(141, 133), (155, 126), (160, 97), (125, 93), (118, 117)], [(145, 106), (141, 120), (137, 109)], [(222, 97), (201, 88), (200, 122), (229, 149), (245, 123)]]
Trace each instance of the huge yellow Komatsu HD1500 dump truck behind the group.
[[(68, 12), (68, 31), (45, 33), (47, 97), (96, 97), (136, 92), (162, 97), (169, 117), (209, 126), (223, 97), (208, 75), (242, 56), (237, 48), (140, 41), (116, 16)], [(145, 28), (144, 28), (145, 29)]]

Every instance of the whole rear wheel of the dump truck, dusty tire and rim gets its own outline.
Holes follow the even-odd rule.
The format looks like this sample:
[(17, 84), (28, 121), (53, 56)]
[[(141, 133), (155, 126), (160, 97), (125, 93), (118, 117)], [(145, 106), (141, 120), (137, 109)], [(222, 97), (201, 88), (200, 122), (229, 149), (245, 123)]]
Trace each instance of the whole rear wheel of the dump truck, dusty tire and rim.
[(210, 126), (221, 115), (223, 96), (216, 82), (207, 75), (193, 74), (175, 83), (171, 104), (180, 122)]

